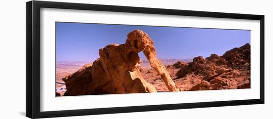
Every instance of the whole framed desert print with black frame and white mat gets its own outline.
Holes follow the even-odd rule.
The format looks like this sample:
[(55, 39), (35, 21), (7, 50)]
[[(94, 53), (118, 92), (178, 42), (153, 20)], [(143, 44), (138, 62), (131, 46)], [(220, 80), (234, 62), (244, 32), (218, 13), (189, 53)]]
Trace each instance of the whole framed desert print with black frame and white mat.
[(26, 3), (26, 116), (264, 104), (264, 15)]

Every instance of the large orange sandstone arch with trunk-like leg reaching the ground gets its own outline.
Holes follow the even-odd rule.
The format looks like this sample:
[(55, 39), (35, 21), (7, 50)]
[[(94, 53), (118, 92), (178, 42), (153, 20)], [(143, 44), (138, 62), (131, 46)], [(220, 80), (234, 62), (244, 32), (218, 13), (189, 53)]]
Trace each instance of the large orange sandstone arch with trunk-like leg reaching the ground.
[(157, 59), (153, 41), (140, 30), (128, 34), (125, 44), (109, 44), (99, 49), (100, 58), (67, 76), (66, 95), (118, 94), (156, 92), (140, 74), (143, 51), (151, 67), (164, 80), (170, 91), (179, 91), (163, 64)]

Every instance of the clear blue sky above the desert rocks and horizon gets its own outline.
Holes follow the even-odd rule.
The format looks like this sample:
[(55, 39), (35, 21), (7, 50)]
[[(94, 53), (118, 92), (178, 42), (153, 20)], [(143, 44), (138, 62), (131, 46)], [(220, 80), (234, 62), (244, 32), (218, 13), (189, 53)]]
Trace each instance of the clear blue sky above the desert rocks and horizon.
[[(127, 34), (142, 30), (154, 41), (160, 59), (208, 57), (250, 43), (250, 31), (56, 22), (56, 60), (93, 62), (98, 50), (125, 43)], [(144, 59), (142, 52), (138, 53)]]

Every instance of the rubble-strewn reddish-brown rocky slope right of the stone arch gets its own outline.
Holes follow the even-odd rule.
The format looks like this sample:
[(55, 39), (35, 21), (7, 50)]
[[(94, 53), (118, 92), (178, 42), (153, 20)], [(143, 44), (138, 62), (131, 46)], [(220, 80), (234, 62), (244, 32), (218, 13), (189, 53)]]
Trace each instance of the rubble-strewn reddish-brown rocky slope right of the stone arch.
[(177, 79), (191, 79), (192, 76), (202, 79), (189, 90), (250, 88), (250, 45), (233, 48), (223, 56), (211, 54), (205, 60), (195, 57), (176, 76)]

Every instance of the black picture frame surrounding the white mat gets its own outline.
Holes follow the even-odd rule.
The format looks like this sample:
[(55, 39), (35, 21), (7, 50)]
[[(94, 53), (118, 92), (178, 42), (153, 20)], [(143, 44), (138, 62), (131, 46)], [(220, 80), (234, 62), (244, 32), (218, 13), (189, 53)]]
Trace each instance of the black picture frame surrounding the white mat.
[[(182, 15), (213, 18), (232, 18), (260, 20), (260, 98), (249, 100), (230, 100), (201, 103), (183, 103), (149, 106), (131, 106), (117, 108), (81, 109), (65, 111), (40, 111), (40, 8), (61, 8), (96, 11), (114, 11), (129, 13), (147, 13), (163, 15)], [(265, 103), (265, 16), (252, 14), (220, 13), (191, 10), (175, 10), (161, 8), (144, 8), (130, 6), (98, 5), (85, 3), (68, 3), (52, 1), (26, 2), (26, 117), (28, 118), (53, 118), (67, 116), (99, 115), (113, 113), (129, 113), (143, 111), (160, 111), (188, 108), (205, 108), (219, 106), (249, 105)]]

